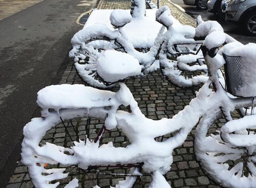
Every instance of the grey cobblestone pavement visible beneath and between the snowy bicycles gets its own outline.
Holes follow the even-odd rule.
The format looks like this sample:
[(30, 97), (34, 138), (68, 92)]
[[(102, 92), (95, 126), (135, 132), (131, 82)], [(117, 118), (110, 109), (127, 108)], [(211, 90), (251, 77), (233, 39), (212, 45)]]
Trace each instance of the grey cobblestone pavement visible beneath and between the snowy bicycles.
[[(156, 1), (156, 0), (153, 0)], [(156, 2), (154, 2), (156, 3)], [(176, 6), (173, 6), (169, 0), (161, 0), (161, 6), (167, 5), (170, 7), (173, 16), (178, 19), (182, 24), (188, 24), (195, 26), (195, 21), (184, 14)], [(130, 9), (130, 0), (100, 0), (98, 3), (98, 9)], [(71, 38), (72, 36), (70, 36)], [(60, 84), (84, 84), (73, 66), (73, 61), (70, 61), (65, 69)], [(140, 110), (150, 119), (172, 118), (180, 110), (182, 110), (194, 95), (191, 90), (180, 89), (173, 87), (162, 76), (161, 71), (156, 71), (148, 74), (145, 78), (129, 79), (126, 81), (126, 85), (129, 87), (134, 95), (135, 100), (138, 102)], [(113, 89), (114, 92), (118, 88)], [(35, 101), (36, 102), (36, 101)], [(102, 126), (101, 121), (92, 120), (90, 125), (90, 138), (93, 139), (96, 136), (97, 131)], [(84, 129), (86, 124), (86, 118), (77, 119), (76, 126), (79, 127), (80, 139), (84, 139)], [(220, 127), (223, 124), (223, 119), (216, 124), (216, 127)], [(213, 129), (215, 130), (215, 129)], [(203, 173), (199, 165), (197, 164), (193, 154), (193, 137), (195, 128), (188, 135), (188, 138), (184, 144), (176, 148), (173, 151), (173, 164), (171, 171), (169, 171), (165, 177), (173, 188), (219, 188), (214, 182), (208, 179)], [(167, 135), (171, 136), (171, 135)], [(52, 137), (57, 139), (52, 139)], [(58, 125), (53, 128), (48, 135), (44, 138), (45, 141), (54, 142), (58, 145), (67, 146), (71, 142), (65, 135), (65, 130), (62, 125)], [(126, 146), (128, 140), (126, 137), (114, 129), (110, 132), (104, 133), (102, 143), (114, 142), (115, 146)], [(73, 172), (73, 168), (71, 169)], [(120, 168), (102, 168), (102, 171), (106, 173), (125, 173), (125, 169)], [(109, 188), (109, 185), (115, 185), (115, 177), (110, 177), (102, 174), (86, 174), (82, 171), (74, 169), (74, 177), (80, 179), (80, 188), (90, 188), (96, 184), (101, 188)], [(73, 177), (72, 177), (73, 178)], [(70, 181), (70, 179), (67, 179)], [(61, 184), (65, 185), (67, 180), (62, 180)], [(119, 177), (118, 180), (122, 180)], [(134, 188), (147, 188), (151, 181), (150, 176), (142, 176), (137, 179)], [(33, 185), (30, 182), (29, 174), (27, 173), (27, 167), (18, 162), (18, 166), (14, 171), (13, 176), (9, 180), (9, 185), (6, 188), (32, 188)], [(63, 186), (61, 186), (63, 187)]]

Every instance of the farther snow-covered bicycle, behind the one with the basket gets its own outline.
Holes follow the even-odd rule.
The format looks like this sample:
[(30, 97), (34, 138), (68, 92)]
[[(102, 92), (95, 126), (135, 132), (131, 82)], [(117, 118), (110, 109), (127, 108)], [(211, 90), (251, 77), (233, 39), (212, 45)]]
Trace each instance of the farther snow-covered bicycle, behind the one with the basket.
[[(144, 4), (142, 3), (142, 5)], [(141, 10), (140, 7), (137, 10), (137, 12), (145, 11), (143, 9)], [(170, 9), (167, 6), (157, 10), (155, 16), (156, 21), (161, 23), (162, 27), (155, 38), (153, 46), (149, 50), (144, 49), (143, 52), (134, 48), (133, 43), (137, 43), (137, 46), (143, 46), (143, 43), (146, 43), (145, 40), (141, 40), (140, 45), (138, 45), (138, 41), (131, 43), (130, 40), (134, 37), (132, 35), (138, 35), (138, 33), (132, 32), (131, 27), (153, 23), (152, 20), (144, 17), (144, 14), (141, 17), (132, 18), (127, 10), (114, 10), (110, 14), (110, 21), (117, 30), (110, 30), (107, 26), (94, 24), (77, 32), (71, 40), (73, 49), (69, 55), (74, 58), (74, 65), (80, 78), (93, 87), (113, 87), (113, 83), (104, 82), (97, 74), (98, 58), (104, 54), (105, 50), (112, 49), (128, 53), (140, 62), (142, 67), (141, 72), (132, 76), (146, 75), (150, 70), (149, 67), (154, 62), (155, 64), (159, 64), (159, 61), (155, 60), (161, 54), (167, 54), (168, 62), (165, 61), (164, 63), (168, 64), (168, 66), (165, 66), (168, 67), (168, 70), (164, 70), (164, 73), (167, 76), (175, 75), (175, 79), (178, 79), (177, 81), (171, 79), (172, 83), (179, 87), (191, 87), (197, 85), (197, 81), (205, 82), (208, 79), (207, 67), (203, 64), (203, 57), (199, 52), (202, 41), (193, 40), (195, 29), (192, 26), (183, 26), (170, 16)], [(154, 21), (152, 26), (146, 25), (149, 30), (154, 30), (152, 27), (159, 25), (156, 21)], [(128, 24), (131, 24), (131, 26), (127, 26)], [(128, 31), (125, 30), (126, 28), (128, 28)], [(151, 31), (148, 32), (150, 33)], [(147, 33), (144, 35), (147, 35)], [(183, 63), (183, 66), (180, 66), (182, 67), (182, 71), (176, 66), (176, 58), (178, 56), (182, 56), (179, 59), (181, 64)], [(196, 65), (193, 68), (188, 68), (190, 67), (188, 64), (193, 62), (196, 62)], [(204, 71), (203, 75), (199, 76), (201, 79), (196, 79), (196, 75), (194, 75), (194, 78), (188, 79), (187, 74), (184, 74), (185, 71), (191, 72), (196, 70), (200, 71), (199, 74), (201, 74), (201, 71)], [(184, 78), (186, 82), (179, 81), (179, 77)], [(202, 77), (205, 79), (202, 79)]]

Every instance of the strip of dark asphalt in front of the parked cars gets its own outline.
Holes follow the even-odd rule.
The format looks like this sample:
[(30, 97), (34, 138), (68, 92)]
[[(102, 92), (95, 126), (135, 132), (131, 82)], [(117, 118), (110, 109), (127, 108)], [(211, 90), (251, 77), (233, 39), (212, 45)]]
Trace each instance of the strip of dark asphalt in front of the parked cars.
[(218, 16), (215, 16), (211, 12), (200, 11), (195, 6), (187, 6), (183, 3), (183, 0), (171, 0), (171, 1), (181, 6), (187, 14), (191, 15), (191, 17), (195, 19), (198, 15), (201, 15), (204, 21), (216, 20), (223, 27), (225, 33), (232, 36), (233, 38), (235, 38), (236, 40), (238, 40), (243, 44), (247, 44), (250, 42), (256, 43), (256, 37), (244, 35), (243, 30), (239, 26), (229, 23), (226, 20), (220, 19)]

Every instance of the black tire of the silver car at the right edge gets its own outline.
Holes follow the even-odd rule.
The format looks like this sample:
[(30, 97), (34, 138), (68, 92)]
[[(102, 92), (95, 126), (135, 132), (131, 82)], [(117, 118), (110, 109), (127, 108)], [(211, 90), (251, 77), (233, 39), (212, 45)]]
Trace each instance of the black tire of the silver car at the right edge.
[(249, 12), (244, 16), (242, 27), (247, 35), (256, 36), (256, 12)]

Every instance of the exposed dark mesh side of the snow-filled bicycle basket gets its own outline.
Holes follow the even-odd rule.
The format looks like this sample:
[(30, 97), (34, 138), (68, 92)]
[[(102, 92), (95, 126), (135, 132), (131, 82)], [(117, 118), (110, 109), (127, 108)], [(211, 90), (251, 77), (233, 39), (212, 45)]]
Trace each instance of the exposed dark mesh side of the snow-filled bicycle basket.
[(243, 85), (243, 79), (241, 78), (242, 58), (240, 56), (229, 56), (223, 54), (223, 58), (226, 61), (224, 64), (226, 88), (227, 91), (234, 96), (241, 96), (241, 93), (237, 93), (238, 89)]

